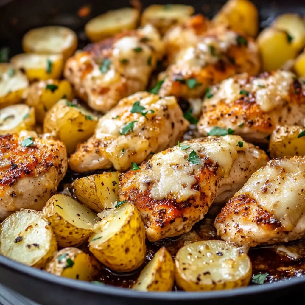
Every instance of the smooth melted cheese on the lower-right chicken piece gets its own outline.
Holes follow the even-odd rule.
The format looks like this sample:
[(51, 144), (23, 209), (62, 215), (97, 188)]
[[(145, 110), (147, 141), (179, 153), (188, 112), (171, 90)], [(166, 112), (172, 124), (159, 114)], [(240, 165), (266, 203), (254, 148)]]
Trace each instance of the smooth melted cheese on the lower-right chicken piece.
[(272, 160), (235, 196), (249, 194), (292, 231), (305, 212), (305, 158)]

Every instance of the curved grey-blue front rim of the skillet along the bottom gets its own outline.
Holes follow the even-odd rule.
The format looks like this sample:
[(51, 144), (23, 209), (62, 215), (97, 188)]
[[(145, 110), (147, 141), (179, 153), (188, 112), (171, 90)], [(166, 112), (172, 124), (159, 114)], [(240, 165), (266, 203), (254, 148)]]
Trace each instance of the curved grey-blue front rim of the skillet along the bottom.
[[(64, 278), (46, 271), (21, 264), (0, 254), (0, 265), (13, 272), (23, 273), (24, 275), (36, 279), (65, 286), (66, 288), (79, 289), (94, 294), (117, 296), (128, 298), (141, 298), (145, 300), (209, 300), (233, 298), (236, 296), (247, 296), (257, 293), (274, 292), (294, 285), (305, 284), (305, 276), (294, 277), (282, 282), (266, 283), (264, 285), (251, 285), (241, 288), (228, 290), (213, 290), (200, 292), (190, 291), (171, 291), (171, 292), (141, 292), (127, 288), (120, 288), (111, 285), (96, 285), (90, 282)], [(5, 285), (5, 284), (4, 284)]]

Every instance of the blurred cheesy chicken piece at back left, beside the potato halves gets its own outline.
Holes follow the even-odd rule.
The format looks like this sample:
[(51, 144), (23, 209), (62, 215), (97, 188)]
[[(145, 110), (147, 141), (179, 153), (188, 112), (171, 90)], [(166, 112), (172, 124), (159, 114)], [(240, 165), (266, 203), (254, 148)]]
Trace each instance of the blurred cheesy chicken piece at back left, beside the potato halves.
[(146, 25), (77, 52), (67, 60), (64, 75), (91, 108), (106, 112), (123, 97), (145, 90), (162, 56), (159, 33)]

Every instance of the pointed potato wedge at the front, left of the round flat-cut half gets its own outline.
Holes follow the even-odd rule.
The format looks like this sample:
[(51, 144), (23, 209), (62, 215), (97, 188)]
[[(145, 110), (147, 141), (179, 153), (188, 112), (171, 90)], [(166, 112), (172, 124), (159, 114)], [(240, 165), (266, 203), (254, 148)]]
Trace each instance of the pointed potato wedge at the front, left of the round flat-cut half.
[(165, 247), (160, 248), (142, 270), (132, 289), (171, 291), (174, 285), (174, 261)]

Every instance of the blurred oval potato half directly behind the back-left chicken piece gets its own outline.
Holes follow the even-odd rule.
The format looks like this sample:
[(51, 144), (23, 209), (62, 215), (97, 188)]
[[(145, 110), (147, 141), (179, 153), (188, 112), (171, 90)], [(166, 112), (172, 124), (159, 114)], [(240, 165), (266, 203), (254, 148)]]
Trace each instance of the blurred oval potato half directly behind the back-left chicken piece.
[(91, 19), (85, 26), (85, 32), (93, 42), (113, 36), (123, 30), (134, 29), (139, 18), (139, 11), (124, 7), (108, 11)]

